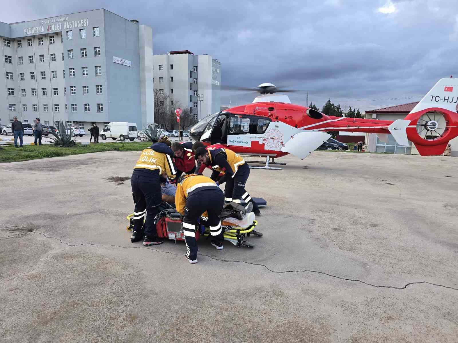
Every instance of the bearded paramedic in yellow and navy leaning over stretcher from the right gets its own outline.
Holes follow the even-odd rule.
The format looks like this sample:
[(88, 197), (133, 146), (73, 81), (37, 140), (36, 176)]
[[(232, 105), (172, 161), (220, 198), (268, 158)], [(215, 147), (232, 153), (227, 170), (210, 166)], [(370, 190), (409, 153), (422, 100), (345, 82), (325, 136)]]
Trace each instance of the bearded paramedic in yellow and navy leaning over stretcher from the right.
[(245, 207), (247, 203), (251, 202), (253, 204), (253, 212), (256, 215), (261, 215), (257, 204), (251, 199), (250, 194), (245, 191), (246, 180), (250, 176), (250, 167), (242, 157), (229, 149), (206, 150), (202, 147), (197, 148), (195, 155), (196, 159), (202, 164), (212, 166), (213, 173), (210, 177), (212, 180), (216, 180), (220, 172), (224, 173), (218, 184), (226, 182), (226, 187), (224, 188), (224, 200), (226, 202), (233, 201)]

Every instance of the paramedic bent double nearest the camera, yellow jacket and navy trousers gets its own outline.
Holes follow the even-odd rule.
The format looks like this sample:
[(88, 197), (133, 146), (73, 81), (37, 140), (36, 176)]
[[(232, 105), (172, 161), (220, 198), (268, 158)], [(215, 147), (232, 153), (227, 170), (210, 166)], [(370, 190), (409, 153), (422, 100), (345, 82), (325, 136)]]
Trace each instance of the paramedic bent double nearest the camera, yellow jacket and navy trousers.
[(223, 210), (224, 193), (209, 177), (203, 175), (183, 175), (177, 183), (175, 194), (176, 210), (184, 215), (183, 231), (185, 234), (186, 254), (189, 263), (197, 263), (196, 231), (198, 220), (207, 211), (211, 243), (218, 250), (223, 249), (224, 230), (219, 216)]

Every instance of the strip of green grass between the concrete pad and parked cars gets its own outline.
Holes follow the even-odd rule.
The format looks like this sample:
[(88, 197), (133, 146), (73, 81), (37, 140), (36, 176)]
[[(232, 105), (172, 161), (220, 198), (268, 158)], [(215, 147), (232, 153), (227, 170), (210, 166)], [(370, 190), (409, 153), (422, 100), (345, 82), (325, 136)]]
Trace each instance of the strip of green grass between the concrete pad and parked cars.
[(91, 152), (101, 151), (140, 151), (151, 146), (151, 144), (151, 142), (78, 144), (68, 148), (51, 144), (40, 146), (24, 145), (23, 148), (15, 148), (14, 145), (6, 145), (0, 150), (0, 162), (19, 162), (37, 160), (40, 158), (89, 154)]

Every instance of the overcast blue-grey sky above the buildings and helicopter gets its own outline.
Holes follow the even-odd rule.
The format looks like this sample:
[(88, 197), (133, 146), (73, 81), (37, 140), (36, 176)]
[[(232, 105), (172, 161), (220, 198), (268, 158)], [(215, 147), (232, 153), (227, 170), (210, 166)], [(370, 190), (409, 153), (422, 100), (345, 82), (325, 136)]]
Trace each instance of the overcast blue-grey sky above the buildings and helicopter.
[[(153, 27), (153, 52), (190, 50), (222, 63), (223, 85), (272, 82), (304, 90), (292, 102), (327, 98), (361, 110), (418, 101), (458, 76), (458, 1), (27, 1), (2, 6), (0, 21), (105, 8)], [(225, 91), (222, 104), (255, 93)]]

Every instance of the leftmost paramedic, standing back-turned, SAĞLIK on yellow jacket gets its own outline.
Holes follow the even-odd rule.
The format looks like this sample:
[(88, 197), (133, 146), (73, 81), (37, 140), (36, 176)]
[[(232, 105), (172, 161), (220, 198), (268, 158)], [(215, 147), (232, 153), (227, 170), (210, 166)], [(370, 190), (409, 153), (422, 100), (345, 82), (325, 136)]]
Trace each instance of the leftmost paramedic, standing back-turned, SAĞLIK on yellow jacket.
[(173, 180), (176, 176), (173, 157), (173, 151), (167, 145), (154, 143), (150, 148), (142, 151), (134, 167), (131, 177), (132, 196), (135, 203), (132, 243), (141, 241), (143, 237), (145, 238), (144, 246), (164, 242), (162, 238), (158, 237), (154, 218), (162, 202), (160, 175), (166, 173), (169, 180)]

